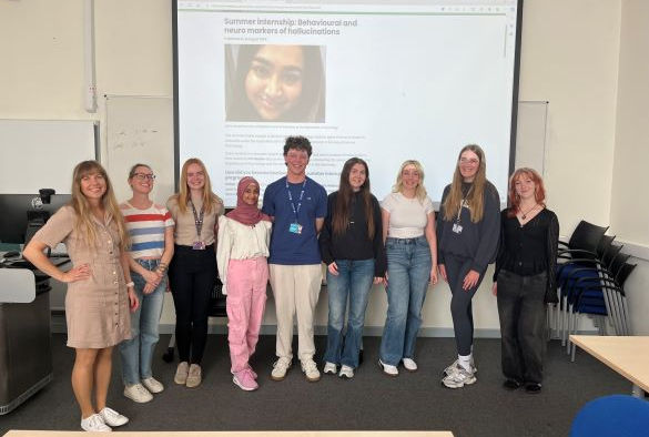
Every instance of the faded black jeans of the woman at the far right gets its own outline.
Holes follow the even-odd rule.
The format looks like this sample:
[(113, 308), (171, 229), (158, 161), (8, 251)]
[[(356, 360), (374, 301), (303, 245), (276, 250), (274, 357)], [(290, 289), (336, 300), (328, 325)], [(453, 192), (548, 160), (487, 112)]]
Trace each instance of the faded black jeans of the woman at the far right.
[(518, 383), (540, 384), (546, 348), (547, 273), (519, 276), (500, 271), (497, 280), (503, 374)]

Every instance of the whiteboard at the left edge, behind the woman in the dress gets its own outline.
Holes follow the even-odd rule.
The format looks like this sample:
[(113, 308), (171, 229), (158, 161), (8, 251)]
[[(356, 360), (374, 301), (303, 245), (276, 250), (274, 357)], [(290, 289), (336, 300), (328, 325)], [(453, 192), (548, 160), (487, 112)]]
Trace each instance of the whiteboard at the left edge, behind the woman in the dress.
[(93, 120), (0, 120), (0, 194), (70, 194), (72, 171), (94, 160)]

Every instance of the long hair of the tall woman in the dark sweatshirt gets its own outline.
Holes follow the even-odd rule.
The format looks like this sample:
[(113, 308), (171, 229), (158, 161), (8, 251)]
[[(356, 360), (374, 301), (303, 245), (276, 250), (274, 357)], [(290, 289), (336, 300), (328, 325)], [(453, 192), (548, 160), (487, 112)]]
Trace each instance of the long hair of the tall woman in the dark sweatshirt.
[(485, 152), (477, 144), (468, 144), (462, 148), (457, 155), (457, 165), (453, 174), (453, 183), (450, 184), (450, 192), (444, 201), (444, 220), (449, 222), (457, 215), (462, 207), (464, 194), (462, 193), (462, 173), (459, 172), (459, 160), (462, 154), (466, 151), (474, 152), (479, 160), (478, 171), (469, 190), (466, 201), (471, 215), (471, 222), (478, 223), (483, 220), (485, 213), (485, 187), (487, 186), (487, 163), (485, 161)]

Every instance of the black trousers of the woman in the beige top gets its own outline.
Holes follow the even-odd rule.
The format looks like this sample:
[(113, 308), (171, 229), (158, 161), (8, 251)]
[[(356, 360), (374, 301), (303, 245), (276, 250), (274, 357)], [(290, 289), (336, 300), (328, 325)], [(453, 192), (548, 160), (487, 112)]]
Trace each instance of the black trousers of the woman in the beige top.
[(207, 341), (210, 295), (216, 281), (214, 246), (175, 246), (169, 284), (175, 306), (175, 342), (181, 362), (201, 364)]

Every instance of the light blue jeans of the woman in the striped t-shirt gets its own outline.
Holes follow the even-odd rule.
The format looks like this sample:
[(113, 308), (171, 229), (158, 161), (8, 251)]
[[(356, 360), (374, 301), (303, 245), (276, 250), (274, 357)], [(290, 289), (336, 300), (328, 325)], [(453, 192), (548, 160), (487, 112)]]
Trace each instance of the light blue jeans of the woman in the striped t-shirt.
[[(160, 260), (135, 260), (135, 262), (149, 271), (154, 271), (160, 264)], [(131, 339), (120, 343), (124, 385), (140, 384), (141, 379), (152, 376), (151, 359), (159, 339), (159, 322), (166, 289), (166, 276), (150, 294), (143, 293), (146, 285), (144, 277), (131, 271), (131, 278), (135, 283), (135, 294), (140, 299), (140, 306), (136, 312), (131, 313)]]

